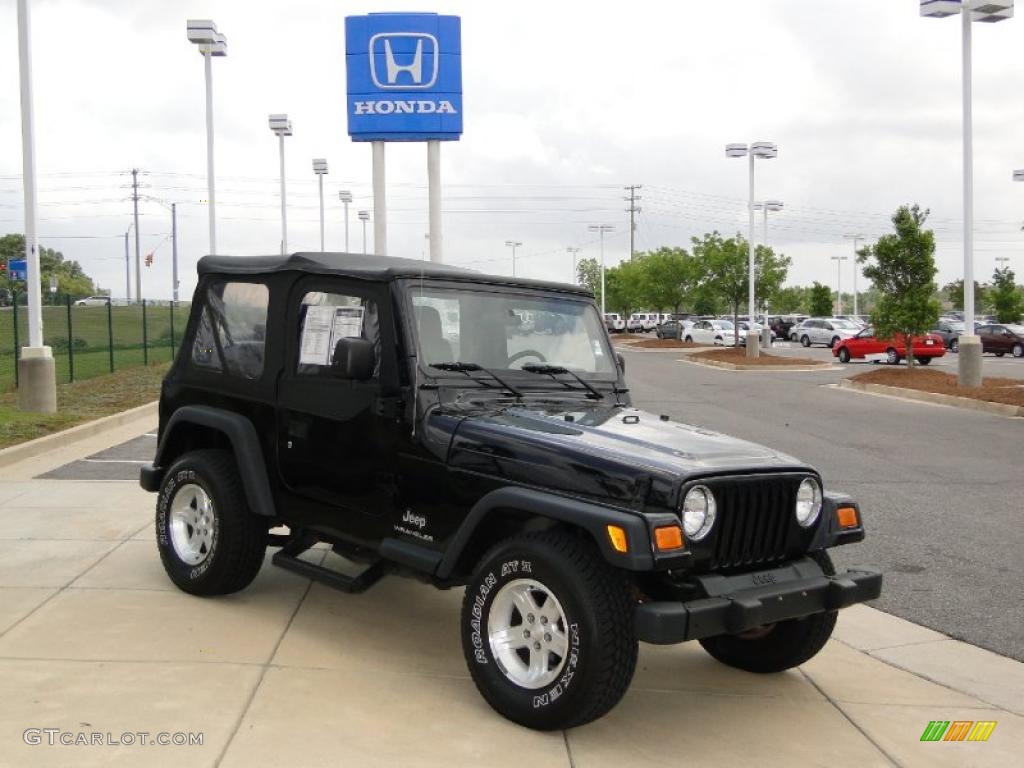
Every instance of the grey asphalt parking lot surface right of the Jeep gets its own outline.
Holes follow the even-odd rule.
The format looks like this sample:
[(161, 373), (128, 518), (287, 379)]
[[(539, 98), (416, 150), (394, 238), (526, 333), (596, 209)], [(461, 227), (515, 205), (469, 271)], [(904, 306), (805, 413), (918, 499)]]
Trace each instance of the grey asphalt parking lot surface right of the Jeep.
[[(622, 348), (639, 407), (777, 447), (861, 502), (867, 539), (836, 559), (885, 571), (878, 607), (1024, 659), (1020, 419), (834, 386), (870, 362), (729, 372), (680, 361), (686, 350)], [(823, 347), (776, 351), (831, 356)], [(954, 372), (956, 356), (940, 365)], [(985, 373), (1024, 378), (1024, 360), (986, 355)]]

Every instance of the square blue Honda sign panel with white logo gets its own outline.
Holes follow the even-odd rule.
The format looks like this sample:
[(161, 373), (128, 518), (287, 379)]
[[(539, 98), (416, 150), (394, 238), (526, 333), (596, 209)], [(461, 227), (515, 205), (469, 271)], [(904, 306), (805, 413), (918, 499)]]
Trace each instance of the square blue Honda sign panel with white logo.
[(347, 16), (345, 66), (353, 141), (455, 141), (462, 135), (459, 16)]

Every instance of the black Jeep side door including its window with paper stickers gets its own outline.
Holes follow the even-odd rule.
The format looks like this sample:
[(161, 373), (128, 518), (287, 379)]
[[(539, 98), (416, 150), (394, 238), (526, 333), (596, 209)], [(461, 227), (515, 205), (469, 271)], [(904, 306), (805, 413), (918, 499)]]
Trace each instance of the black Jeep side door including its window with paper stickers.
[[(393, 503), (399, 400), (387, 287), (307, 278), (293, 287), (287, 313), (278, 386), (281, 479), (305, 524), (375, 541)], [(366, 378), (352, 375), (347, 357), (335, 359), (344, 339), (372, 343)]]

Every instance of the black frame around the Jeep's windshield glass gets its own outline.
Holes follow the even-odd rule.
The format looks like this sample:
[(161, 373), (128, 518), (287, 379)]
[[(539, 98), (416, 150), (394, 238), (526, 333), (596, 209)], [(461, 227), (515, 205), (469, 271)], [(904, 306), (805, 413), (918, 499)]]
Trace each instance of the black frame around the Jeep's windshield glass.
[[(416, 372), (415, 375), (427, 377), (432, 380), (446, 380), (446, 384), (452, 385), (469, 385), (473, 387), (481, 386), (473, 381), (473, 379), (468, 378), (465, 374), (454, 372), (454, 371), (441, 371), (430, 367), (426, 362), (420, 359), (419, 355), (419, 338), (417, 336), (417, 327), (415, 321), (415, 305), (413, 300), (417, 295), (417, 290), (422, 286), (424, 289), (433, 291), (453, 291), (453, 292), (464, 292), (464, 293), (475, 293), (475, 294), (494, 294), (497, 296), (521, 296), (529, 299), (560, 299), (564, 301), (571, 301), (577, 304), (583, 304), (590, 308), (593, 312), (594, 317), (597, 322), (598, 327), (598, 340), (602, 345), (602, 349), (607, 359), (610, 360), (612, 371), (608, 373), (596, 373), (591, 371), (577, 371), (583, 379), (590, 383), (598, 383), (605, 385), (623, 385), (623, 373), (618, 365), (618, 353), (616, 352), (614, 346), (611, 343), (611, 339), (608, 336), (608, 331), (605, 326), (604, 315), (601, 314), (600, 307), (597, 306), (594, 301), (593, 296), (584, 293), (582, 290), (577, 289), (571, 290), (575, 287), (566, 286), (564, 292), (553, 290), (550, 288), (532, 288), (529, 286), (514, 286), (514, 285), (496, 285), (488, 283), (475, 283), (470, 281), (446, 281), (446, 280), (431, 280), (431, 279), (402, 279), (396, 281), (399, 287), (400, 300), (402, 304), (402, 337), (406, 346), (406, 355), (411, 359), (414, 367), (412, 370)], [(606, 313), (607, 314), (607, 313)], [(461, 362), (478, 362), (477, 360), (460, 360)], [(548, 365), (555, 365), (549, 361)], [(560, 364), (558, 364), (560, 365)], [(488, 367), (489, 368), (489, 367)], [(528, 383), (526, 389), (535, 389), (537, 391), (544, 391), (547, 393), (551, 391), (559, 391), (569, 393), (569, 390), (565, 389), (564, 386), (558, 382), (553, 382), (549, 377), (538, 376), (535, 373), (528, 371), (523, 371), (519, 368), (495, 368), (493, 369), (498, 372), (498, 374), (503, 378), (514, 379), (517, 382), (517, 388), (522, 389), (524, 383)]]

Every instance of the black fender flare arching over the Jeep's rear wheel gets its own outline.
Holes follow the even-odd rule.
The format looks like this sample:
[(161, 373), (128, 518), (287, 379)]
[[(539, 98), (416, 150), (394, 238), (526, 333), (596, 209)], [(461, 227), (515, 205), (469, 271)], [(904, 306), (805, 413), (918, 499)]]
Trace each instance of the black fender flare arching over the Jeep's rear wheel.
[(221, 432), (231, 443), (234, 463), (242, 475), (249, 509), (264, 517), (276, 517), (270, 483), (266, 478), (266, 463), (256, 428), (246, 417), (210, 406), (182, 406), (167, 420), (161, 433), (157, 456), (152, 466), (142, 468), (139, 484), (146, 490), (157, 490), (167, 471), (166, 451), (176, 428), (183, 424), (199, 424)]

